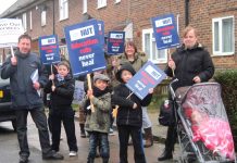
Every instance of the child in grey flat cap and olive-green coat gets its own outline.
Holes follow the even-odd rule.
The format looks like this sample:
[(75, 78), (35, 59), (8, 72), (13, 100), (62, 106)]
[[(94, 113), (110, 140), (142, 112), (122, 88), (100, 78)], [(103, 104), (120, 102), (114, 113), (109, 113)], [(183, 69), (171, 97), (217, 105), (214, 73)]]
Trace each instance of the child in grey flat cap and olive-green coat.
[[(87, 120), (85, 129), (89, 133), (89, 154), (88, 163), (93, 163), (96, 158), (96, 149), (100, 143), (100, 156), (103, 163), (109, 162), (110, 148), (108, 133), (110, 129), (110, 109), (111, 93), (108, 88), (109, 77), (103, 74), (95, 74), (92, 90), (87, 91), (87, 98), (82, 105), (87, 108)], [(93, 104), (95, 112), (90, 111), (90, 102)]]

